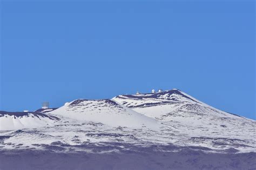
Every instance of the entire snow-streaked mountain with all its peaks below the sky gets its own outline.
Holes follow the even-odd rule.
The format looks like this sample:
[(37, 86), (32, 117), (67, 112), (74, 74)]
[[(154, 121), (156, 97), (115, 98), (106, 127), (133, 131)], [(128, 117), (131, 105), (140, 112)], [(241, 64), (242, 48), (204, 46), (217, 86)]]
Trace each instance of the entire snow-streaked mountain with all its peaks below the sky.
[[(222, 162), (226, 166), (226, 161), (230, 161), (235, 164), (232, 169), (241, 169), (254, 166), (251, 160), (256, 150), (255, 128), (255, 120), (220, 111), (173, 89), (113, 99), (77, 99), (59, 108), (35, 112), (1, 111), (0, 153), (28, 148), (50, 151), (47, 154), (133, 153), (134, 161), (141, 159), (142, 154), (161, 154), (159, 160), (164, 165), (170, 162), (165, 161), (166, 155), (172, 157), (177, 153), (171, 166), (179, 167), (176, 158), (186, 158), (186, 168), (198, 167), (194, 161), (196, 157), (202, 160), (198, 155), (204, 153), (204, 157), (210, 155), (216, 164)], [(233, 155), (221, 158), (221, 154), (233, 153), (246, 154), (241, 158), (250, 162), (234, 163), (230, 159)], [(212, 154), (217, 156), (212, 158)], [(211, 167), (212, 163), (208, 164)], [(164, 169), (157, 163), (156, 168)]]

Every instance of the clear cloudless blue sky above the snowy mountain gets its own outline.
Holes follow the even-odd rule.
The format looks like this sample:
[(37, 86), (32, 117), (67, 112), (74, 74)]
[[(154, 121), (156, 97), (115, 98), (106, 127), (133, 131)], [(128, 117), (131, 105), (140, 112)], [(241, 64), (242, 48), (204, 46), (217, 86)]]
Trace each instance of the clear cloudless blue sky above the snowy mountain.
[(177, 88), (256, 119), (254, 1), (1, 1), (0, 110)]

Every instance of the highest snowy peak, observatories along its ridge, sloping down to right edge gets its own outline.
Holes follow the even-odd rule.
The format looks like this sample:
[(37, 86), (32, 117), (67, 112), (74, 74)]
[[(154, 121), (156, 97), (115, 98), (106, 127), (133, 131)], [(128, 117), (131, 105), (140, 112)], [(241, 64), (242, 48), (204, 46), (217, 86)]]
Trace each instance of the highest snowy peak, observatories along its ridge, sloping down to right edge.
[(176, 128), (179, 133), (190, 136), (190, 143), (208, 147), (209, 144), (221, 145), (221, 142), (228, 145), (229, 140), (238, 139), (247, 141), (242, 144), (244, 148), (246, 144), (256, 144), (256, 121), (220, 111), (177, 89), (120, 95), (113, 100)]

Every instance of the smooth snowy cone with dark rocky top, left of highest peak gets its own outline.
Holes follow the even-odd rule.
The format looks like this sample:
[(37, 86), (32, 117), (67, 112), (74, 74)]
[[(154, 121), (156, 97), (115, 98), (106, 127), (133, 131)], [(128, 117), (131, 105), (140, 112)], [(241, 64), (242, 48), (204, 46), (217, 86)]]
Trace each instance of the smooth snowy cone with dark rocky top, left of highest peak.
[(79, 121), (103, 123), (109, 126), (157, 128), (160, 125), (157, 120), (146, 117), (109, 99), (78, 99), (49, 113), (63, 115)]

